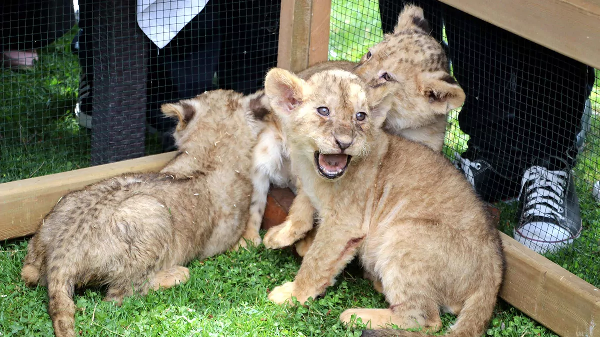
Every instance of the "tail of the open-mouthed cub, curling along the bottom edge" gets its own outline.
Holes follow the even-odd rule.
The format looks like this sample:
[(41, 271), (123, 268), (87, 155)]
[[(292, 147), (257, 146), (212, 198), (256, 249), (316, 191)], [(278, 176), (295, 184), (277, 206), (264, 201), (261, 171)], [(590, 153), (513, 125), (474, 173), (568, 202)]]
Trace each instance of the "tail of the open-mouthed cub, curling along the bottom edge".
[[(481, 337), (487, 328), (488, 321), (494, 312), (496, 305), (496, 293), (494, 291), (479, 290), (464, 302), (463, 309), (458, 319), (451, 327), (449, 337)], [(363, 330), (363, 337), (425, 337), (430, 336), (419, 331), (376, 329)]]

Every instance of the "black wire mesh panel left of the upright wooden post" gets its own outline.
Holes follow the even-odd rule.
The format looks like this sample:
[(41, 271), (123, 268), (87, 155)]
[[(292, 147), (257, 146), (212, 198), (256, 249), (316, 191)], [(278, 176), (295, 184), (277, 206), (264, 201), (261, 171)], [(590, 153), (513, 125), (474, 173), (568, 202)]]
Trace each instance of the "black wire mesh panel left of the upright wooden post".
[[(280, 1), (193, 7), (204, 3), (2, 2), (0, 182), (172, 151), (161, 104), (261, 88), (277, 65)], [(140, 27), (173, 34), (153, 41)]]

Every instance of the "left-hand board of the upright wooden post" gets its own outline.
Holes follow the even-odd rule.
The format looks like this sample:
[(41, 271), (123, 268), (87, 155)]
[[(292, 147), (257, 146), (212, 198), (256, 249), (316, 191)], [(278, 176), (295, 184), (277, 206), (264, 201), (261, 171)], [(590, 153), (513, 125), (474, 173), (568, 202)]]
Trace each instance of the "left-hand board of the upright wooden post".
[(312, 0), (281, 1), (277, 67), (299, 72), (308, 67)]

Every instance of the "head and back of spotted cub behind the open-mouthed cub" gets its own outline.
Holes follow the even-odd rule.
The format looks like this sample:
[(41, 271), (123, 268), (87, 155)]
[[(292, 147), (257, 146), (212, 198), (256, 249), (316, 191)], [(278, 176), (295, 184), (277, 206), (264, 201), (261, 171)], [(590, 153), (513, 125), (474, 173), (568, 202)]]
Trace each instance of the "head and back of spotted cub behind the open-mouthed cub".
[(299, 73), (306, 80), (323, 70), (350, 71), (373, 87), (394, 91), (384, 129), (442, 151), (446, 118), (461, 107), (466, 95), (450, 75), (442, 45), (431, 37), (422, 8), (406, 5), (392, 34), (362, 57), (358, 64), (323, 62)]

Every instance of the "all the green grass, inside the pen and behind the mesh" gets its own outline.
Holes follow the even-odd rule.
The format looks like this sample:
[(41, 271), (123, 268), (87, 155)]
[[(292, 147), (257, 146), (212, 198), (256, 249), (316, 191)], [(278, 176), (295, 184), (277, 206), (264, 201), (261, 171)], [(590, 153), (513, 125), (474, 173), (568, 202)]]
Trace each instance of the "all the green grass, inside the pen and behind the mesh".
[[(376, 1), (334, 1), (330, 59), (358, 61), (368, 46), (382, 39)], [(70, 52), (74, 30), (40, 50), (34, 70), (0, 70), (0, 182), (89, 166), (89, 131), (73, 118), (79, 68)], [(597, 76), (599, 77), (599, 76)], [(592, 100), (598, 110), (600, 83)], [(452, 112), (445, 152), (466, 149), (467, 136)], [(152, 137), (149, 137), (152, 139)], [(148, 153), (158, 151), (148, 143)], [(598, 239), (600, 209), (590, 182), (600, 179), (600, 121), (594, 116), (585, 151), (575, 169), (584, 218), (583, 237), (574, 247), (550, 256), (595, 285), (600, 284)], [(502, 230), (512, 234), (515, 204), (502, 209)], [(52, 333), (46, 288), (27, 288), (20, 279), (27, 241), (0, 243), (0, 336), (46, 336)], [(299, 262), (289, 250), (264, 246), (228, 252), (190, 264), (186, 284), (125, 300), (121, 307), (103, 302), (104, 290), (87, 288), (76, 297), (77, 328), (89, 336), (354, 336), (338, 320), (352, 306), (386, 307), (383, 296), (363, 279), (356, 264), (338, 278), (324, 297), (307, 308), (274, 305), (269, 289), (293, 279)], [(454, 320), (443, 317), (447, 327)], [(500, 300), (487, 335), (555, 336), (522, 312)]]

